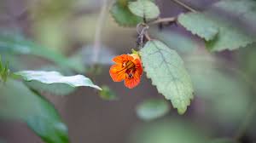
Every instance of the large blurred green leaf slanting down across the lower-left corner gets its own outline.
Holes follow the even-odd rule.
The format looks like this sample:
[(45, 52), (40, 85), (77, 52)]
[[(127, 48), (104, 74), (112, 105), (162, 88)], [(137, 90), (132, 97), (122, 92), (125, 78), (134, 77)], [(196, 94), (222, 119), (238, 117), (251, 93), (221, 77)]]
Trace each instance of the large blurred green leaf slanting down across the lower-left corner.
[(0, 83), (0, 118), (27, 123), (46, 143), (68, 143), (67, 127), (47, 100), (9, 79)]

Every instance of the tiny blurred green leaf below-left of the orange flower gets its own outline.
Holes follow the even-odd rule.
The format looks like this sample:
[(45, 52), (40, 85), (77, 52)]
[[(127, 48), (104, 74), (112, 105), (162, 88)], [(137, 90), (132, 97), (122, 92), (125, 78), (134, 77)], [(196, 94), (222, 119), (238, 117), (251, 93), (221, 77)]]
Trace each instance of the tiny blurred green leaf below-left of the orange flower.
[(107, 85), (102, 86), (102, 90), (100, 91), (100, 97), (103, 100), (117, 100), (117, 95), (110, 89)]

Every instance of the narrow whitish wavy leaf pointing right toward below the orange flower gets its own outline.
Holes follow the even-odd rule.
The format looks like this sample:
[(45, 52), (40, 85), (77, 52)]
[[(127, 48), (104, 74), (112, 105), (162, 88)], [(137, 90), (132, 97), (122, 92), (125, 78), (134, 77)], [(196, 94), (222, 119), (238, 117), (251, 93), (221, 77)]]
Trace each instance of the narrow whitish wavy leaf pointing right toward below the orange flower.
[(83, 75), (64, 77), (59, 72), (44, 72), (44, 71), (21, 71), (15, 72), (16, 75), (21, 76), (25, 81), (38, 81), (45, 84), (67, 84), (73, 88), (88, 86), (91, 88), (99, 89), (100, 87), (90, 81), (88, 77)]

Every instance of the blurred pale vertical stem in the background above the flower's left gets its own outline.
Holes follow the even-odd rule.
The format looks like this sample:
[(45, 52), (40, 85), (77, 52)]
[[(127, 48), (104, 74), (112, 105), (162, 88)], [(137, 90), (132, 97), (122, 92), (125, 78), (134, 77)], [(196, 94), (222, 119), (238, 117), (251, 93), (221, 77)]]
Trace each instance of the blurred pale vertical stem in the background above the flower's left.
[(99, 52), (101, 48), (102, 42), (102, 28), (104, 26), (104, 20), (106, 19), (106, 14), (108, 9), (107, 0), (102, 0), (102, 9), (99, 15), (99, 18), (96, 23), (96, 31), (95, 31), (95, 40), (94, 40), (94, 50), (93, 50), (93, 63), (95, 64), (99, 57)]

